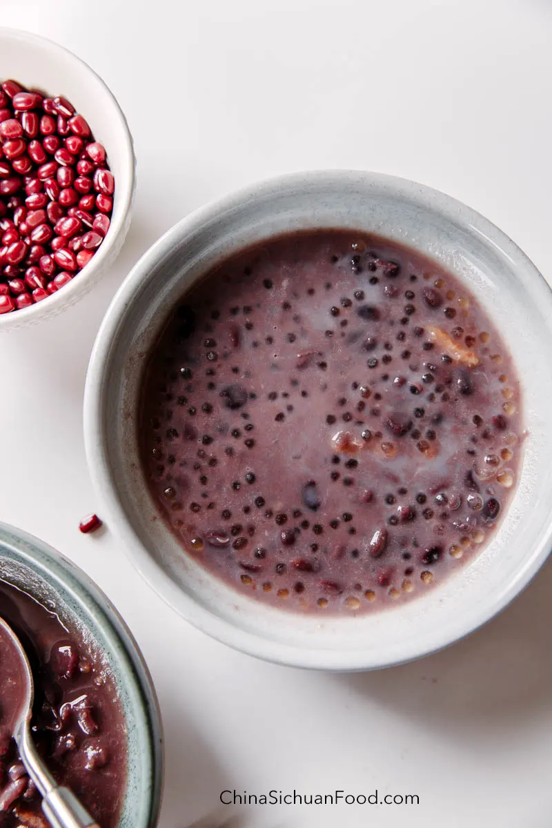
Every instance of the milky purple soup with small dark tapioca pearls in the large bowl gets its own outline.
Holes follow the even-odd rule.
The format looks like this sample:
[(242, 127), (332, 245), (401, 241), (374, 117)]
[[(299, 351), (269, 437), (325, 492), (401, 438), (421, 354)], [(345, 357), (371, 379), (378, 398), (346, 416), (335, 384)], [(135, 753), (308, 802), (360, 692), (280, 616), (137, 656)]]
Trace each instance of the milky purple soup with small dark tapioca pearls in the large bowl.
[(521, 429), (468, 287), (338, 229), (207, 273), (142, 382), (143, 468), (183, 555), (295, 611), (373, 611), (460, 570), (508, 507)]

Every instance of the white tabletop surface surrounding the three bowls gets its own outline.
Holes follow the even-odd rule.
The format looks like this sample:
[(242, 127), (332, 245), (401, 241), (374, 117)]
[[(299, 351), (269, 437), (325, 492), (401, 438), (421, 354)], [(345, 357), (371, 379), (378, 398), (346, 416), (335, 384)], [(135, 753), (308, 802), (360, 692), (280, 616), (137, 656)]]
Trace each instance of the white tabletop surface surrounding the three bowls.
[(0, 0), (0, 23), (87, 60), (136, 142), (136, 210), (113, 272), (63, 317), (0, 339), (0, 517), (84, 567), (137, 637), (166, 725), (161, 828), (216, 811), (233, 787), (420, 796), (249, 808), (252, 828), (549, 828), (552, 566), (446, 652), (323, 675), (209, 640), (111, 532), (77, 527), (96, 505), (81, 405), (99, 321), (141, 253), (205, 201), (302, 168), (394, 173), (486, 214), (550, 277), (552, 2)]

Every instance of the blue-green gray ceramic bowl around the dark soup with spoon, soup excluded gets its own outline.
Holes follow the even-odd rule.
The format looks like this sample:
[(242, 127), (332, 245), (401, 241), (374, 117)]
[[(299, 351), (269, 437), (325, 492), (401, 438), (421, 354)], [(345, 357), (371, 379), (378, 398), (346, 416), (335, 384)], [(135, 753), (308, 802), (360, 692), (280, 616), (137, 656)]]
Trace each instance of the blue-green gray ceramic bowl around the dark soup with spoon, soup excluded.
[(84, 572), (36, 537), (0, 523), (0, 579), (55, 609), (107, 659), (127, 724), (127, 792), (118, 828), (156, 826), (163, 772), (161, 715), (137, 643)]

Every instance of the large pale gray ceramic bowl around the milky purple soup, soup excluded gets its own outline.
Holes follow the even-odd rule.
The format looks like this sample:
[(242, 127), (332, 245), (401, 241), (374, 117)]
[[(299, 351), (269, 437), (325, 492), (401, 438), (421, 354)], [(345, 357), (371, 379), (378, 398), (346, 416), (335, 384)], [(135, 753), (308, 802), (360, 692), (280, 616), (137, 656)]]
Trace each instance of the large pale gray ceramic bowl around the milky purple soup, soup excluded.
[[(506, 337), (525, 391), (529, 435), (521, 479), (492, 542), (420, 599), (379, 614), (291, 614), (238, 595), (183, 554), (144, 483), (137, 450), (142, 369), (166, 315), (215, 262), (274, 233), (362, 229), (434, 258), (468, 283)], [(517, 595), (552, 534), (552, 293), (521, 250), (472, 209), (410, 181), (314, 172), (242, 190), (190, 215), (127, 277), (89, 367), (85, 438), (103, 508), (142, 575), (186, 619), (275, 662), (327, 669), (384, 667), (471, 632)]]

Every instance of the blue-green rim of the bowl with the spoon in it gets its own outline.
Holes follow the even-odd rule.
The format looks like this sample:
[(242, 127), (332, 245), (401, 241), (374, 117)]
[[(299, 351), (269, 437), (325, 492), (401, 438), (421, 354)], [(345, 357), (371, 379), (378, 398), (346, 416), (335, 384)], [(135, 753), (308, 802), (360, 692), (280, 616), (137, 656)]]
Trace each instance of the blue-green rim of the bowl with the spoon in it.
[[(61, 552), (42, 541), (41, 538), (25, 532), (9, 523), (0, 522), (0, 556), (2, 549), (12, 550), (14, 560), (23, 561), (24, 566), (38, 572), (41, 578), (52, 585), (60, 585), (75, 604), (87, 604), (90, 613), (99, 610), (103, 624), (122, 647), (127, 669), (132, 676), (137, 695), (142, 700), (143, 716), (150, 744), (150, 796), (143, 828), (156, 826), (161, 811), (164, 786), (164, 739), (161, 707), (156, 688), (151, 678), (142, 651), (127, 623), (113, 602), (87, 575), (84, 570), (66, 558)], [(11, 560), (8, 558), (8, 560)]]

